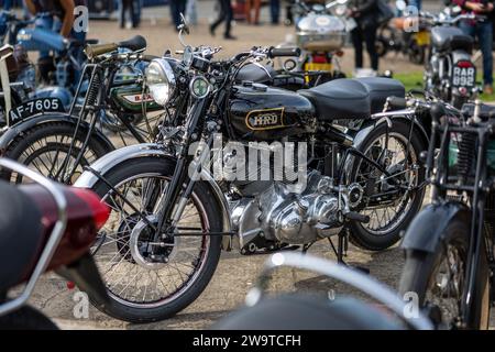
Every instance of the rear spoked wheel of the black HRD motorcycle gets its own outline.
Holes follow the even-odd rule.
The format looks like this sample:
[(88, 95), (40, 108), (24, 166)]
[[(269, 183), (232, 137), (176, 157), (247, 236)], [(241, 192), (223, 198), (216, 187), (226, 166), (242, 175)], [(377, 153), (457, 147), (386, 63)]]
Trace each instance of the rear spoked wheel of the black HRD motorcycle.
[(351, 222), (350, 240), (360, 248), (381, 251), (395, 244), (422, 205), (425, 189), (418, 186), (425, 179), (425, 169), (418, 157), (427, 145), (415, 128), (408, 146), (409, 129), (406, 122), (393, 121), (387, 136), (383, 123), (370, 132), (360, 147), (391, 175), (363, 158), (354, 161), (351, 201), (358, 204), (355, 210), (370, 217), (369, 223)]

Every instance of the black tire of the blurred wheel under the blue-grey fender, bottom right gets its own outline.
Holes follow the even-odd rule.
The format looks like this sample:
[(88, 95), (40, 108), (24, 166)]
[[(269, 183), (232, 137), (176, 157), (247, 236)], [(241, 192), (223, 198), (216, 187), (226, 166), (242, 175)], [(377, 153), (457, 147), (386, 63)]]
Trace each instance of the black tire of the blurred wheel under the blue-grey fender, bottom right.
[[(440, 265), (442, 257), (444, 257), (446, 246), (452, 244), (459, 248), (464, 264), (466, 263), (465, 256), (470, 239), (469, 222), (455, 218), (446, 228), (442, 239), (446, 245), (439, 245), (436, 253), (406, 251), (406, 263), (400, 276), (399, 293), (400, 295), (416, 293), (418, 295), (419, 307), (421, 308), (428, 304), (426, 301), (428, 286), (436, 273), (436, 268)], [(469, 329), (487, 329), (490, 322), (490, 270), (484, 245), (482, 253), (480, 271), (476, 273), (476, 283), (479, 286), (472, 299), (472, 308), (475, 309), (475, 312), (472, 315), (472, 321), (468, 322)]]

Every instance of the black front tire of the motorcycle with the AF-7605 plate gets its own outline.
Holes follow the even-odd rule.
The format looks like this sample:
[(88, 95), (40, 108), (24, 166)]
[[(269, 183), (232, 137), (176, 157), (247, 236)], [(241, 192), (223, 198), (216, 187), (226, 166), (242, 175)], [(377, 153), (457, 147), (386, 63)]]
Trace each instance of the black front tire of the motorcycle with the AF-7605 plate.
[[(33, 157), (34, 154), (33, 150), (35, 152), (41, 152), (41, 146), (38, 144), (40, 141), (44, 140), (46, 141), (46, 139), (55, 136), (61, 139), (64, 138), (65, 140), (63, 140), (63, 142), (53, 142), (50, 143), (50, 145), (45, 145), (43, 152), (53, 152), (58, 148), (68, 154), (70, 141), (74, 136), (74, 131), (75, 131), (74, 124), (62, 121), (35, 125), (32, 129), (22, 133), (21, 135), (16, 136), (7, 147), (7, 151), (3, 156), (16, 161), (21, 164), (33, 167), (33, 164), (31, 164), (32, 161), (30, 161), (30, 158)], [(79, 131), (76, 135), (76, 140), (77, 140), (76, 143), (80, 143), (81, 145), (86, 140), (86, 133), (84, 131)], [(72, 153), (73, 156), (75, 157), (78, 154), (78, 152), (79, 152), (78, 148), (73, 148)], [(87, 154), (85, 154), (85, 156), (87, 155), (88, 158), (82, 160), (81, 166), (89, 165), (90, 163), (102, 157), (109, 152), (111, 151), (107, 146), (100, 143), (97, 139), (91, 138), (89, 140), (88, 148), (86, 152)], [(47, 172), (44, 172), (38, 167), (36, 167), (36, 170), (46, 177), (51, 176), (47, 175)], [(13, 175), (10, 170), (2, 170), (0, 173), (0, 177), (8, 182), (19, 182), (15, 175)]]

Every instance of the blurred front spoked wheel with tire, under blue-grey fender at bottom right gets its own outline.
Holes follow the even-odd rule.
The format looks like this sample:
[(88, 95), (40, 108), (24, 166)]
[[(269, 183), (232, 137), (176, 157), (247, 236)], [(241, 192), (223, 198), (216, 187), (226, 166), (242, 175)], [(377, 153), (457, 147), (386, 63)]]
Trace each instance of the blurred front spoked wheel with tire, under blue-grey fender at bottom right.
[(453, 220), (446, 229), (436, 253), (408, 251), (400, 277), (399, 292), (415, 293), (420, 308), (437, 309), (443, 329), (487, 329), (490, 320), (490, 274), (486, 253), (482, 251), (477, 287), (471, 299), (471, 321), (461, 319), (461, 301), (466, 286), (470, 227), (466, 221)]

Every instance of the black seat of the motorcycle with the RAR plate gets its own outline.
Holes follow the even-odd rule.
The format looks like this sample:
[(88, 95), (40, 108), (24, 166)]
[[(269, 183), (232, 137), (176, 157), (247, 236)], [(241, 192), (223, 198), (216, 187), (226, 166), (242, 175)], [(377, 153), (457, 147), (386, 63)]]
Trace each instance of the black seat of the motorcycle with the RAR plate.
[(474, 40), (455, 26), (436, 26), (431, 30), (431, 43), (440, 52), (462, 50), (471, 53)]

